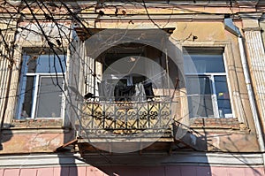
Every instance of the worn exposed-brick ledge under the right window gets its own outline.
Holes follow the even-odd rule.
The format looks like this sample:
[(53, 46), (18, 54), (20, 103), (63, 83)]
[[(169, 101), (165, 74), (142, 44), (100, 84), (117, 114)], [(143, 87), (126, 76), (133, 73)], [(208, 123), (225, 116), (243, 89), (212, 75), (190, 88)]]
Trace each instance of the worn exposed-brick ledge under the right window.
[(215, 128), (240, 130), (238, 119), (191, 119), (192, 128)]

